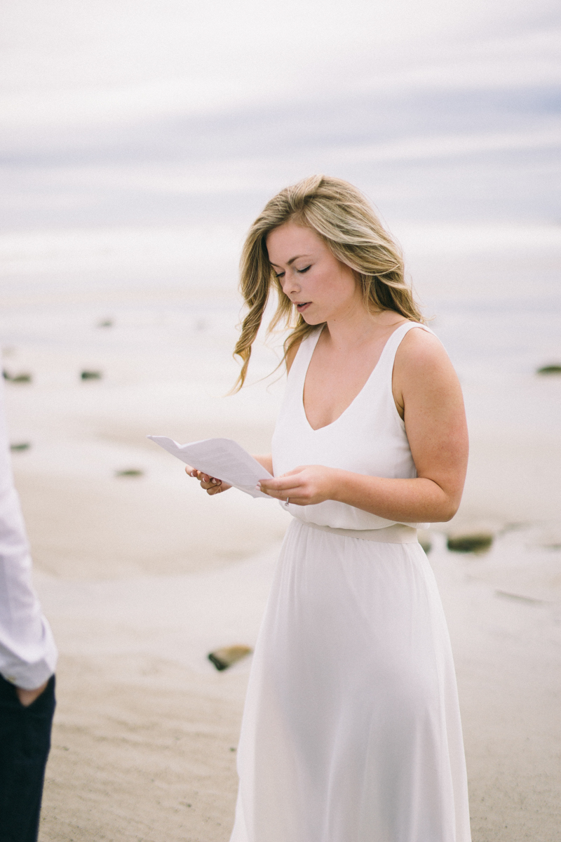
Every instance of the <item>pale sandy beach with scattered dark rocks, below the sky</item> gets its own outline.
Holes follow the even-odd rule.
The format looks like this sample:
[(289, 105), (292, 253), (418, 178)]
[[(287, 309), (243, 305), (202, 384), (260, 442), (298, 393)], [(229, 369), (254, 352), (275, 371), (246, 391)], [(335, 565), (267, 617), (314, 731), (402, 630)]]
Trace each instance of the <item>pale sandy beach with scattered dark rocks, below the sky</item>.
[[(468, 226), (398, 233), (468, 411), (463, 504), (422, 539), (453, 642), (474, 842), (550, 842), (561, 821), (561, 377), (536, 371), (561, 358), (558, 228), (503, 226), (486, 250)], [(289, 515), (236, 490), (209, 498), (146, 436), (267, 451), (282, 371), (261, 378), (281, 338), (259, 343), (251, 385), (229, 397), (230, 253), (231, 280), (201, 292), (171, 271), (166, 285), (147, 273), (112, 288), (114, 266), (95, 262), (97, 287), (66, 289), (48, 259), (42, 283), (26, 286), (30, 251), (26, 263), (13, 249), (0, 329), (8, 375), (32, 376), (6, 382), (8, 420), (13, 444), (29, 445), (13, 467), (61, 652), (40, 839), (226, 842), (251, 658), (218, 672), (207, 656), (255, 645)], [(447, 549), (482, 533), (486, 552)]]

